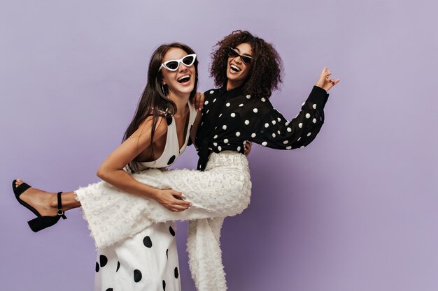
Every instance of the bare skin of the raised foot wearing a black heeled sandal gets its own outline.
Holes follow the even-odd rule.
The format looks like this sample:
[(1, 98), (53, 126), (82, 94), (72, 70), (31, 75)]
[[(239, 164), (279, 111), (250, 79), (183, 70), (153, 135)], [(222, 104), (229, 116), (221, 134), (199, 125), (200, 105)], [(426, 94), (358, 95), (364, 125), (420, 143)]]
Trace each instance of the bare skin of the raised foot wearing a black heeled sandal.
[[(23, 183), (22, 179), (17, 179), (15, 187)], [(41, 216), (56, 216), (57, 193), (49, 193), (36, 188), (29, 188), (20, 195), (20, 199), (34, 207)]]

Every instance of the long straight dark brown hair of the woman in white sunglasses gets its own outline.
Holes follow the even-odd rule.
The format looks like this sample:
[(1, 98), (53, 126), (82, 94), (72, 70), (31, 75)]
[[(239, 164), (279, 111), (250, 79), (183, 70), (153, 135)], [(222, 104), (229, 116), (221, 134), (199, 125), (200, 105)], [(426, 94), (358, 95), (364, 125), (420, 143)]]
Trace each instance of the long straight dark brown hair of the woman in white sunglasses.
[[(148, 116), (153, 116), (152, 119), (152, 130), (150, 133), (150, 149), (153, 155), (153, 137), (155, 135), (155, 126), (157, 126), (157, 119), (160, 116), (171, 117), (176, 113), (176, 104), (174, 101), (170, 100), (167, 97), (167, 93), (169, 88), (167, 85), (162, 85), (162, 70), (160, 70), (160, 66), (163, 62), (164, 54), (166, 54), (171, 48), (180, 48), (187, 52), (187, 54), (195, 54), (195, 51), (192, 50), (188, 45), (184, 45), (183, 43), (170, 43), (169, 45), (160, 45), (160, 47), (153, 52), (152, 57), (150, 57), (149, 68), (148, 68), (148, 81), (146, 82), (146, 88), (143, 90), (143, 94), (141, 94), (141, 98), (139, 100), (139, 104), (137, 105), (136, 112), (134, 114), (134, 118), (129, 124), (127, 130), (125, 131), (125, 135), (123, 136), (123, 142), (127, 140), (132, 133), (134, 133), (140, 126), (140, 124), (146, 119)], [(195, 60), (195, 87), (193, 91), (190, 93), (190, 98), (195, 96), (198, 86), (198, 60)], [(153, 156), (155, 159), (155, 157)], [(137, 158), (134, 158), (128, 164), (130, 170), (134, 172), (138, 172), (140, 170), (139, 161)]]

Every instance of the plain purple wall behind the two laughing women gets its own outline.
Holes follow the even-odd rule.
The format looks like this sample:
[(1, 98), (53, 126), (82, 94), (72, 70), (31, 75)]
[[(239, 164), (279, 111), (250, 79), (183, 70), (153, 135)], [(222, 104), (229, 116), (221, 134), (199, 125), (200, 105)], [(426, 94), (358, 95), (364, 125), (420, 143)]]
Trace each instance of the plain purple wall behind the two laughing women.
[[(150, 53), (209, 54), (234, 29), (275, 44), (272, 102), (293, 117), (323, 66), (341, 77), (304, 150), (253, 148), (253, 198), (222, 232), (229, 290), (438, 290), (438, 37), (432, 1), (23, 1), (0, 5), (1, 290), (92, 290), (80, 211), (34, 234), (10, 181), (69, 191), (132, 117)], [(188, 150), (177, 167), (195, 167)], [(178, 233), (183, 291), (195, 290)]]

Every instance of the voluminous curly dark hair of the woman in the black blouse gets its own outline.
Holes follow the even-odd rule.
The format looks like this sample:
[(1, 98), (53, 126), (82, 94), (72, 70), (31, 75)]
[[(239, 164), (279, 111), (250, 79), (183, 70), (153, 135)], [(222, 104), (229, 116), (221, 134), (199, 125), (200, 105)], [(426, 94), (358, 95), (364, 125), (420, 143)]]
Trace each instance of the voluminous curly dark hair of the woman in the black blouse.
[(251, 45), (255, 59), (248, 80), (243, 84), (243, 91), (258, 98), (269, 98), (272, 91), (278, 89), (283, 82), (283, 61), (273, 45), (248, 31), (233, 31), (216, 43), (217, 48), (211, 53), (210, 76), (218, 87), (227, 84), (229, 47), (234, 48), (241, 43)]

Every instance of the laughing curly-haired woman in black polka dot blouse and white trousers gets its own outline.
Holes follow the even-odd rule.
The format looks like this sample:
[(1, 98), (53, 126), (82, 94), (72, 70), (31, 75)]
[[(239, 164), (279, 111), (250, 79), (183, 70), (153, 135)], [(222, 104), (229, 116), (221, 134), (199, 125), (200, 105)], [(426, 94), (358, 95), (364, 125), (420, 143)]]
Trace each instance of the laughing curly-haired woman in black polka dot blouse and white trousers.
[(274, 47), (248, 31), (234, 31), (216, 47), (211, 76), (220, 88), (206, 91), (204, 108), (191, 130), (199, 171), (149, 169), (131, 175), (154, 188), (171, 189), (172, 195), (183, 193), (190, 207), (169, 211), (157, 200), (139, 193), (127, 195), (106, 182), (75, 191), (92, 236), (103, 250), (153, 223), (190, 220), (189, 263), (200, 291), (227, 289), (220, 228), (226, 216), (240, 214), (250, 201), (245, 142), (274, 149), (306, 147), (323, 125), (327, 91), (339, 82), (324, 68), (301, 112), (288, 121), (269, 102), (271, 92), (281, 84), (282, 64)]

